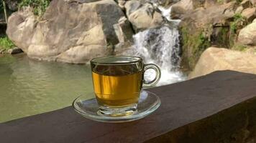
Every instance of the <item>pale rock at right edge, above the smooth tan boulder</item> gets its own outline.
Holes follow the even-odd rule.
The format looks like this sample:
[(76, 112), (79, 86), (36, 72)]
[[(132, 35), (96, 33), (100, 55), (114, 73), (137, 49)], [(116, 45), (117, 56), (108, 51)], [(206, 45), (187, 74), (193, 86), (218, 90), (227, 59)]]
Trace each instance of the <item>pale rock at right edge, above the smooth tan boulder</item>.
[(256, 19), (239, 31), (238, 42), (256, 46)]

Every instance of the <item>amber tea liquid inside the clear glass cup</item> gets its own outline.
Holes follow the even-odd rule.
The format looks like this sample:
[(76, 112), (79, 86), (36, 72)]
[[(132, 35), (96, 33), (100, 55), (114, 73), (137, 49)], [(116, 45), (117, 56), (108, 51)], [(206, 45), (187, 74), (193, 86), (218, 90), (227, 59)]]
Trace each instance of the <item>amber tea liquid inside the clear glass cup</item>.
[(103, 69), (101, 71), (105, 71), (105, 74), (92, 71), (98, 104), (107, 107), (137, 104), (142, 88), (142, 71), (125, 66), (104, 68), (100, 69)]

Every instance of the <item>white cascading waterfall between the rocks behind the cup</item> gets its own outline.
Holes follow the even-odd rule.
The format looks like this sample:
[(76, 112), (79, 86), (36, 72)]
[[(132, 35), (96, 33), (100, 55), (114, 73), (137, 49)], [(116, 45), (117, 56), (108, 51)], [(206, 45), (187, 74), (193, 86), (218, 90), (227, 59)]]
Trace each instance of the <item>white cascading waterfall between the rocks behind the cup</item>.
[[(171, 9), (171, 8), (170, 8)], [(160, 9), (162, 13), (166, 13)], [(156, 29), (147, 29), (133, 36), (134, 45), (125, 54), (140, 56), (145, 63), (154, 63), (160, 66), (162, 77), (157, 84), (165, 85), (180, 82), (186, 79), (180, 69), (180, 41), (179, 32), (176, 28), (177, 20), (170, 19), (170, 15), (166, 15), (169, 22), (173, 22), (173, 27), (162, 26)], [(150, 78), (151, 77), (151, 78)], [(145, 79), (155, 77), (154, 71), (147, 71)]]

